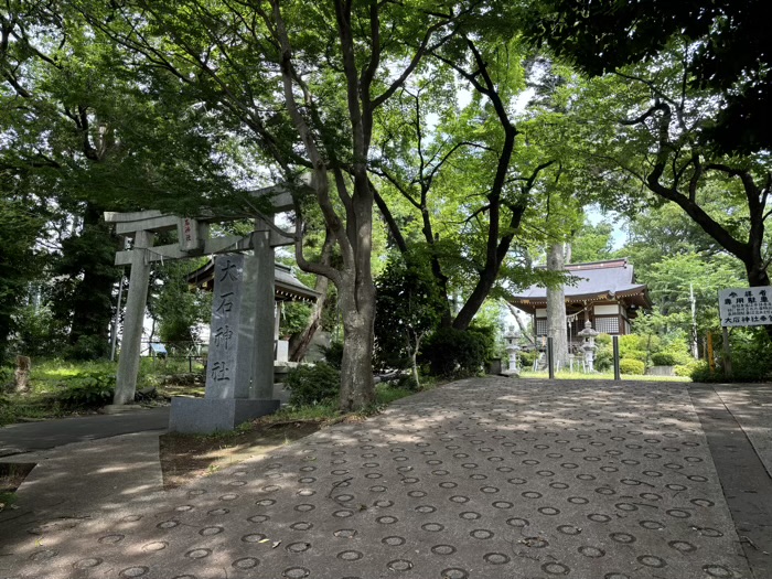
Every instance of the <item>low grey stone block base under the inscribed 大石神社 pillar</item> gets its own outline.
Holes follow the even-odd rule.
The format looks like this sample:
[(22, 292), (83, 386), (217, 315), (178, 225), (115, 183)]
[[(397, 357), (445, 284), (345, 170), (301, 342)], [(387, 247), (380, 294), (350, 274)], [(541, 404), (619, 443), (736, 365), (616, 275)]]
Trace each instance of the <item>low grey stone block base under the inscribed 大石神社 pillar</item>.
[(169, 430), (208, 435), (233, 430), (242, 422), (276, 412), (279, 400), (251, 400), (248, 398), (172, 398)]

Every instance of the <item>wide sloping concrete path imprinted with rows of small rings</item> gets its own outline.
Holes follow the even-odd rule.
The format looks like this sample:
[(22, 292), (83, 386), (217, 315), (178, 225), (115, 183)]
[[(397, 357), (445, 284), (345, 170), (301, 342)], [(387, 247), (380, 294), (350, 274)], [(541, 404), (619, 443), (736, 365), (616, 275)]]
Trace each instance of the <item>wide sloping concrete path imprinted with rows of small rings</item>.
[(463, 380), (152, 496), (0, 522), (0, 577), (752, 577), (683, 384)]

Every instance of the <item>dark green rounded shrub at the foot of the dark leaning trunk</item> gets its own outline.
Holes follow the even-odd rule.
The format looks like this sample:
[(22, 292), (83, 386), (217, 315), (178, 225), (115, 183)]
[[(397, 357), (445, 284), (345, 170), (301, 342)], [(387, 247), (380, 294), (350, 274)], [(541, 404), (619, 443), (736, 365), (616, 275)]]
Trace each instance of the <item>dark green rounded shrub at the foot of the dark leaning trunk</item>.
[(487, 364), (493, 347), (492, 328), (470, 328), (467, 331), (443, 328), (427, 341), (423, 360), (430, 364), (435, 376), (471, 376)]

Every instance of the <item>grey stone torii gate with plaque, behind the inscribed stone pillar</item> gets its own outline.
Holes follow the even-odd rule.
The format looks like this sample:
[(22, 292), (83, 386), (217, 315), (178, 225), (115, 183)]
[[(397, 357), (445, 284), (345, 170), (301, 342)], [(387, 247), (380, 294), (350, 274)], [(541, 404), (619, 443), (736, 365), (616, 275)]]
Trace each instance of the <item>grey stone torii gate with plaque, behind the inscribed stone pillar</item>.
[[(269, 199), (275, 213), (291, 211), (294, 207), (291, 195), (282, 185), (261, 189), (254, 192), (253, 195)], [(249, 276), (253, 280), (250, 286), (253, 293), (246, 297), (247, 300), (254, 300), (251, 305), (254, 311), (250, 311), (250, 314), (254, 317), (254, 326), (251, 329), (254, 333), (249, 337), (251, 351), (247, 353), (251, 360), (242, 360), (239, 362), (242, 371), (238, 378), (240, 380), (246, 379), (250, 384), (240, 394), (228, 392), (214, 393), (210, 396), (210, 380), (207, 376), (206, 397), (233, 399), (240, 396), (248, 400), (271, 400), (274, 392), (274, 248), (292, 245), (296, 234), (294, 232), (281, 230), (272, 223), (271, 217), (257, 214), (254, 216), (255, 230), (249, 235), (210, 236), (210, 224), (226, 223), (240, 218), (244, 218), (244, 216), (224, 217), (208, 215), (195, 218), (181, 217), (179, 215), (164, 215), (158, 211), (105, 213), (105, 221), (115, 224), (117, 235), (132, 239), (131, 248), (118, 251), (115, 260), (117, 266), (128, 265), (131, 267), (131, 270), (116, 390), (112, 405), (107, 407), (107, 411), (120, 411), (127, 403), (131, 403), (135, 399), (151, 264), (165, 259), (233, 254), (249, 249), (254, 251), (254, 259), (249, 261), (248, 266), (250, 268)], [(156, 234), (174, 229), (178, 232), (178, 243), (153, 246)], [(247, 269), (246, 266), (245, 269)], [(248, 333), (249, 329), (242, 328), (242, 333), (245, 331)], [(243, 355), (242, 357), (245, 356)], [(246, 372), (244, 369), (245, 365), (249, 367)], [(236, 376), (234, 376), (235, 379)], [(261, 411), (260, 414), (267, 414), (276, 409), (278, 401), (275, 403), (262, 405), (267, 411)], [(172, 401), (172, 412), (174, 412), (174, 400)], [(228, 421), (225, 420), (225, 422)], [(213, 428), (208, 430), (226, 429), (227, 425), (223, 425), (224, 422), (222, 421), (214, 423)], [(230, 428), (233, 426), (235, 425), (230, 425)], [(192, 431), (185, 427), (179, 430)]]

